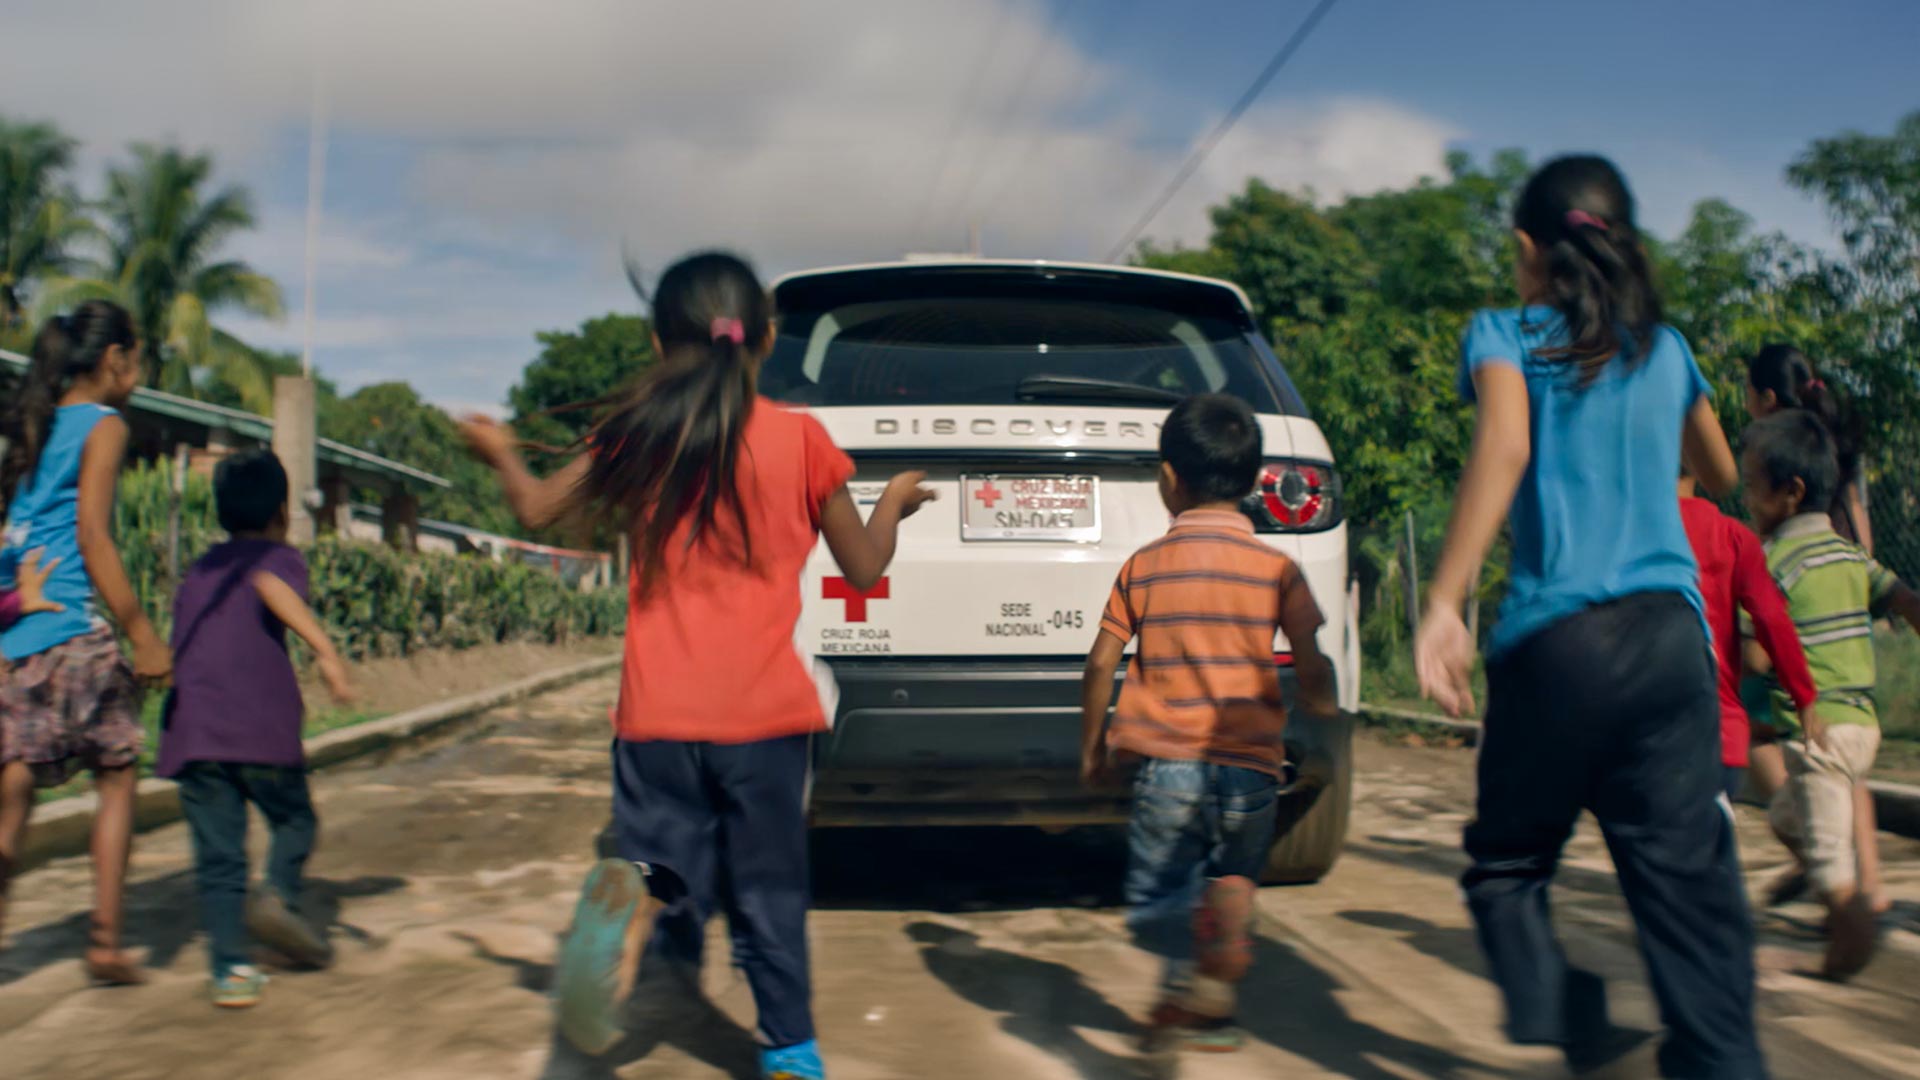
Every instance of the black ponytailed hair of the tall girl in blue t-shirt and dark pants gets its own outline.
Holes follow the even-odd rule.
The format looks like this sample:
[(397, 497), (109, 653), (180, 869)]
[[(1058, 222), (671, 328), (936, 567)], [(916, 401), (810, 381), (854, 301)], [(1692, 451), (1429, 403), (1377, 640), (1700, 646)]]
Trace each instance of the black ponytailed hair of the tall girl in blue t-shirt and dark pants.
[(1615, 356), (1644, 361), (1661, 327), (1661, 294), (1634, 223), (1634, 194), (1613, 161), (1594, 154), (1548, 161), (1521, 188), (1513, 227), (1540, 250), (1546, 300), (1567, 323), (1567, 342), (1536, 356), (1574, 365), (1582, 388)]

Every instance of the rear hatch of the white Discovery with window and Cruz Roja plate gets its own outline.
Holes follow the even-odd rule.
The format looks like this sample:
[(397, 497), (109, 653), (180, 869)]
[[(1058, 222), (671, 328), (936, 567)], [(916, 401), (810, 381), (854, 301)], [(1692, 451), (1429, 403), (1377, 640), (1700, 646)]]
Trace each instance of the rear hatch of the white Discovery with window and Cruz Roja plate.
[[(1296, 423), (1315, 459), (1325, 442), (1298, 419), (1298, 396), (1238, 294), (1217, 282), (908, 265), (797, 277), (776, 298), (762, 392), (806, 405), (854, 457), (860, 503), (900, 469), (925, 469), (939, 490), (902, 525), (893, 567), (866, 594), (816, 552), (804, 651), (1083, 657), (1119, 565), (1167, 528), (1160, 421), (1187, 394), (1229, 392), (1260, 413), (1281, 471), (1256, 517), (1265, 505), (1336, 513), (1325, 461), (1288, 473)], [(1273, 532), (1298, 550), (1296, 536)]]

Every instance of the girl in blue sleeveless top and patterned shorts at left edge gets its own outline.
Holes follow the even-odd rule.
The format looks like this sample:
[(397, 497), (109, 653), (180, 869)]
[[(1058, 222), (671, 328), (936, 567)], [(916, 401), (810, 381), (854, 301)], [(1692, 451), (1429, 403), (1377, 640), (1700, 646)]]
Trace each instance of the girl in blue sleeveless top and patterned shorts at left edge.
[[(0, 498), (8, 500), (0, 582), (15, 580), (21, 557), (42, 550), (52, 569), (46, 600), (60, 605), (0, 634), (0, 655), (13, 665), (0, 684), (0, 922), (35, 788), (90, 771), (100, 805), (86, 972), (104, 984), (144, 982), (121, 949), (134, 767), (144, 742), (140, 684), (161, 684), (173, 671), (173, 653), (140, 611), (111, 534), (127, 452), (119, 405), (138, 384), (132, 319), (117, 304), (88, 300), (40, 327), (27, 377), (0, 415), (8, 440), (0, 459)], [(100, 607), (132, 644), (131, 665)]]

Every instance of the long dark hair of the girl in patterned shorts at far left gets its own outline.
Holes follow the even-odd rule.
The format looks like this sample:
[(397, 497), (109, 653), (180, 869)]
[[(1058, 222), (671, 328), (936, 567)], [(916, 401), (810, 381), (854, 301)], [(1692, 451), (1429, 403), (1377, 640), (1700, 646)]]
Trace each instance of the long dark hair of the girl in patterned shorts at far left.
[(88, 300), (54, 315), (33, 338), (33, 357), (13, 400), (0, 407), (0, 503), (12, 503), (40, 463), (60, 398), (77, 379), (92, 375), (111, 346), (132, 348), (132, 317), (109, 300)]

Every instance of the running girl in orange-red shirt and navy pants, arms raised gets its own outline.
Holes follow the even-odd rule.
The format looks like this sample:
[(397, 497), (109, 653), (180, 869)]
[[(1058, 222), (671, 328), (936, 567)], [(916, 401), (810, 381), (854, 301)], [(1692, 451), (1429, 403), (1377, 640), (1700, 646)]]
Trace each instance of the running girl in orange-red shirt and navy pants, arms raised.
[(801, 575), (818, 538), (854, 588), (893, 561), (900, 519), (933, 498), (895, 477), (868, 521), (852, 461), (806, 413), (758, 398), (772, 300), (741, 259), (674, 263), (653, 296), (649, 369), (547, 479), (513, 432), (468, 419), (528, 527), (563, 517), (634, 538), (626, 661), (614, 711), (620, 859), (588, 874), (561, 947), (561, 1030), (605, 1053), (641, 967), (697, 970), (726, 911), (760, 1011), (762, 1076), (824, 1076), (806, 963), (806, 788), (826, 715), (793, 648)]

